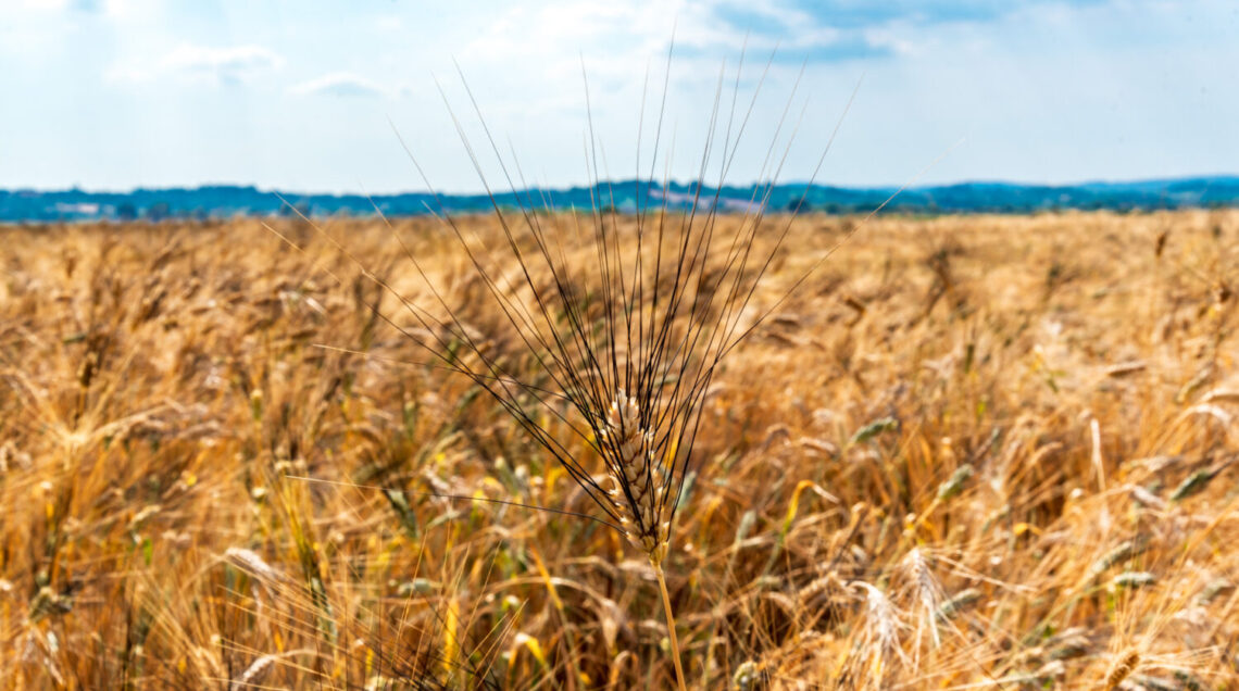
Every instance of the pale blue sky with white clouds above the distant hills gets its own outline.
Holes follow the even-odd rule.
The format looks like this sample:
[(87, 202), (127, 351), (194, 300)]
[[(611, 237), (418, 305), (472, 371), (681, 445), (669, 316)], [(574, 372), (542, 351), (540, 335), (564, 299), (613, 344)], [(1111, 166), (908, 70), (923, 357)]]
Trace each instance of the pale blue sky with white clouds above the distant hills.
[(1237, 124), (1234, 0), (0, 0), (0, 188), (1124, 181)]

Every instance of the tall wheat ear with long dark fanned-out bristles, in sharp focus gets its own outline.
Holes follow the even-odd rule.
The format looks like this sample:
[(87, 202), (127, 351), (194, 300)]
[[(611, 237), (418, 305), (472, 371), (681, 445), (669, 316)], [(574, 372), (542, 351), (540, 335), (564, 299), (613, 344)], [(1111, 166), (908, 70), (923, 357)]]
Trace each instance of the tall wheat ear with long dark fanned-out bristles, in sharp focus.
[[(743, 52), (740, 67), (736, 68), (730, 110), (721, 105), (725, 69), (720, 71), (706, 129), (706, 145), (691, 188), (691, 203), (688, 211), (675, 215), (669, 207), (669, 177), (662, 181), (660, 188), (654, 183), (673, 51), (674, 43), (668, 51), (667, 79), (663, 83), (662, 106), (654, 130), (654, 154), (649, 159), (648, 178), (644, 178), (648, 180), (644, 183), (646, 194), (642, 197), (642, 182), (638, 182), (638, 208), (631, 217), (636, 228), (631, 233), (621, 230), (621, 217), (615, 212), (613, 203), (608, 204), (603, 196), (606, 185), (597, 172), (598, 155), (592, 115), (586, 140), (586, 163), (592, 176), (590, 182), (598, 196), (587, 217), (589, 227), (582, 228), (581, 217), (572, 214), (569, 217), (572, 227), (565, 230), (563, 217), (551, 214), (543, 218), (535, 211), (530, 196), (518, 192), (517, 180), (522, 188), (528, 189), (529, 186), (515, 160), (507, 160), (499, 152), (466, 82), (465, 89), (486, 133), (486, 144), (494, 154), (508, 189), (517, 199), (517, 209), (506, 211), (499, 204), (483, 172), (478, 152), (444, 97), (461, 142), (492, 202), (494, 218), (502, 230), (498, 241), (487, 241), (470, 234), (466, 224), (445, 208), (409, 145), (396, 133), (435, 199), (432, 211), (465, 250), (473, 279), (484, 289), (506, 326), (510, 328), (513, 337), (508, 342), (518, 344), (525, 355), (533, 357), (535, 375), (544, 376), (549, 385), (543, 380), (523, 380), (514, 374), (515, 369), (509, 369), (508, 358), (492, 348), (494, 336), (466, 323), (461, 315), (462, 307), (452, 305), (446, 291), (436, 285), (418, 259), (419, 253), (394, 232), (416, 276), (431, 296), (430, 301), (419, 302), (405, 297), (384, 279), (364, 270), (364, 264), (339, 241), (322, 234), (337, 250), (362, 266), (369, 280), (396, 297), (415, 324), (398, 324), (375, 303), (373, 308), (379, 318), (430, 352), (439, 360), (437, 364), (463, 374), (494, 399), (606, 515), (602, 523), (623, 534), (647, 557), (657, 575), (668, 618), (676, 681), (683, 690), (685, 679), (664, 562), (670, 552), (672, 526), (683, 487), (693, 468), (693, 446), (710, 383), (724, 357), (764, 322), (788, 297), (790, 290), (795, 290), (820, 267), (839, 244), (855, 234), (860, 224), (804, 271), (792, 284), (792, 289), (783, 292), (772, 306), (756, 316), (748, 313), (747, 307), (792, 225), (790, 217), (781, 222), (781, 228), (773, 229), (767, 228), (763, 220), (771, 193), (792, 149), (794, 131), (786, 135), (783, 129), (799, 88), (799, 77), (788, 95), (782, 119), (757, 175), (757, 180), (763, 182), (753, 186), (743, 213), (733, 217), (737, 223), (721, 223), (719, 209), (722, 208), (722, 189), (774, 54), (766, 63), (747, 111), (737, 110)], [(461, 79), (465, 82), (463, 74)], [(589, 111), (587, 80), (585, 97)], [(849, 108), (850, 105), (851, 100), (847, 102)], [(643, 98), (637, 136), (638, 161), (644, 110)], [(844, 113), (846, 114), (846, 109)], [(726, 123), (724, 114), (727, 115)], [(841, 118), (839, 123), (841, 124)], [(805, 182), (802, 203), (838, 130), (839, 124), (831, 133), (817, 168)], [(781, 147), (782, 156), (778, 155)], [(638, 176), (639, 165), (638, 162)], [(711, 166), (717, 166), (717, 182), (712, 191), (707, 191), (705, 185)], [(662, 198), (660, 208), (650, 203), (655, 196)], [(865, 220), (892, 198), (893, 194)], [(545, 199), (544, 206), (548, 211), (554, 211)], [(611, 211), (603, 212), (605, 206)], [(312, 224), (304, 215), (302, 219)], [(731, 233), (727, 232), (727, 225), (732, 227)], [(757, 246), (761, 237), (772, 238), (766, 249)], [(570, 261), (570, 250), (584, 250), (586, 255), (592, 255), (592, 266)], [(596, 280), (596, 285), (591, 285), (591, 279)], [(561, 438), (564, 427), (571, 430), (601, 459), (605, 468), (601, 480), (591, 471), (589, 454), (581, 454)], [(585, 518), (597, 520), (596, 516)]]

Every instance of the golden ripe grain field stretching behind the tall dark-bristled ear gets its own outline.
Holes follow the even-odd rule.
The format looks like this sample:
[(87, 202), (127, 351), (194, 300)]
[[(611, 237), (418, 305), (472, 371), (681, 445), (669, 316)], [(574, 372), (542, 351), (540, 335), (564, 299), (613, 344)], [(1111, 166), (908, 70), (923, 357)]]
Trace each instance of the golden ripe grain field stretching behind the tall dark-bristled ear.
[[(1239, 211), (880, 217), (778, 303), (857, 220), (705, 398), (689, 686), (1239, 687)], [(363, 275), (532, 372), (456, 240), (274, 228), (0, 229), (0, 689), (670, 689), (622, 536), (467, 499), (598, 515)]]

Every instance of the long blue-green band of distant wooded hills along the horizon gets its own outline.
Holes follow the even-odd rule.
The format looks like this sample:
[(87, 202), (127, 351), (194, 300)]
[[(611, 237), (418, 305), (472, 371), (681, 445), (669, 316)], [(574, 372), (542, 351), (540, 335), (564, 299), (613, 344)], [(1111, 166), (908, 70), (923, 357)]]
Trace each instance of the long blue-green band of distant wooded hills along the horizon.
[[(699, 193), (700, 192), (700, 193)], [(886, 201), (895, 188), (846, 188), (804, 183), (698, 189), (695, 183), (650, 185), (634, 180), (567, 189), (522, 189), (497, 194), (501, 207), (555, 208), (595, 207), (634, 212), (638, 208), (699, 208), (717, 204), (725, 211), (745, 211), (760, 204), (760, 194), (771, 211), (865, 213)], [(717, 196), (716, 196), (717, 193)], [(286, 202), (284, 201), (286, 199)], [(803, 201), (802, 201), (803, 199)], [(0, 222), (125, 220), (164, 218), (229, 218), (234, 215), (372, 215), (375, 208), (389, 217), (418, 215), (440, 211), (451, 213), (489, 212), (484, 194), (447, 194), (435, 198), (425, 192), (401, 194), (301, 194), (263, 191), (256, 187), (204, 186), (195, 188), (134, 189), (133, 192), (85, 192), (66, 189), (41, 192), (0, 189)], [(1137, 182), (1087, 182), (1066, 186), (1017, 185), (1007, 182), (963, 182), (916, 187), (901, 192), (888, 211), (902, 213), (1031, 213), (1056, 209), (1151, 211), (1188, 207), (1239, 207), (1239, 176), (1211, 176)]]

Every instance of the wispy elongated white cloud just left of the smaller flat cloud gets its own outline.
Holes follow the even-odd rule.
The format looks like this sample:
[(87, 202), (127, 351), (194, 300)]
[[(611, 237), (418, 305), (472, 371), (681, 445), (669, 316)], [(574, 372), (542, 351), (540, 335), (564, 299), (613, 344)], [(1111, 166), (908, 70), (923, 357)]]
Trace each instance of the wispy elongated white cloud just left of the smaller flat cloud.
[(115, 82), (150, 82), (161, 77), (244, 82), (261, 72), (279, 69), (284, 58), (263, 46), (207, 47), (182, 43), (150, 64), (123, 64), (108, 72)]

